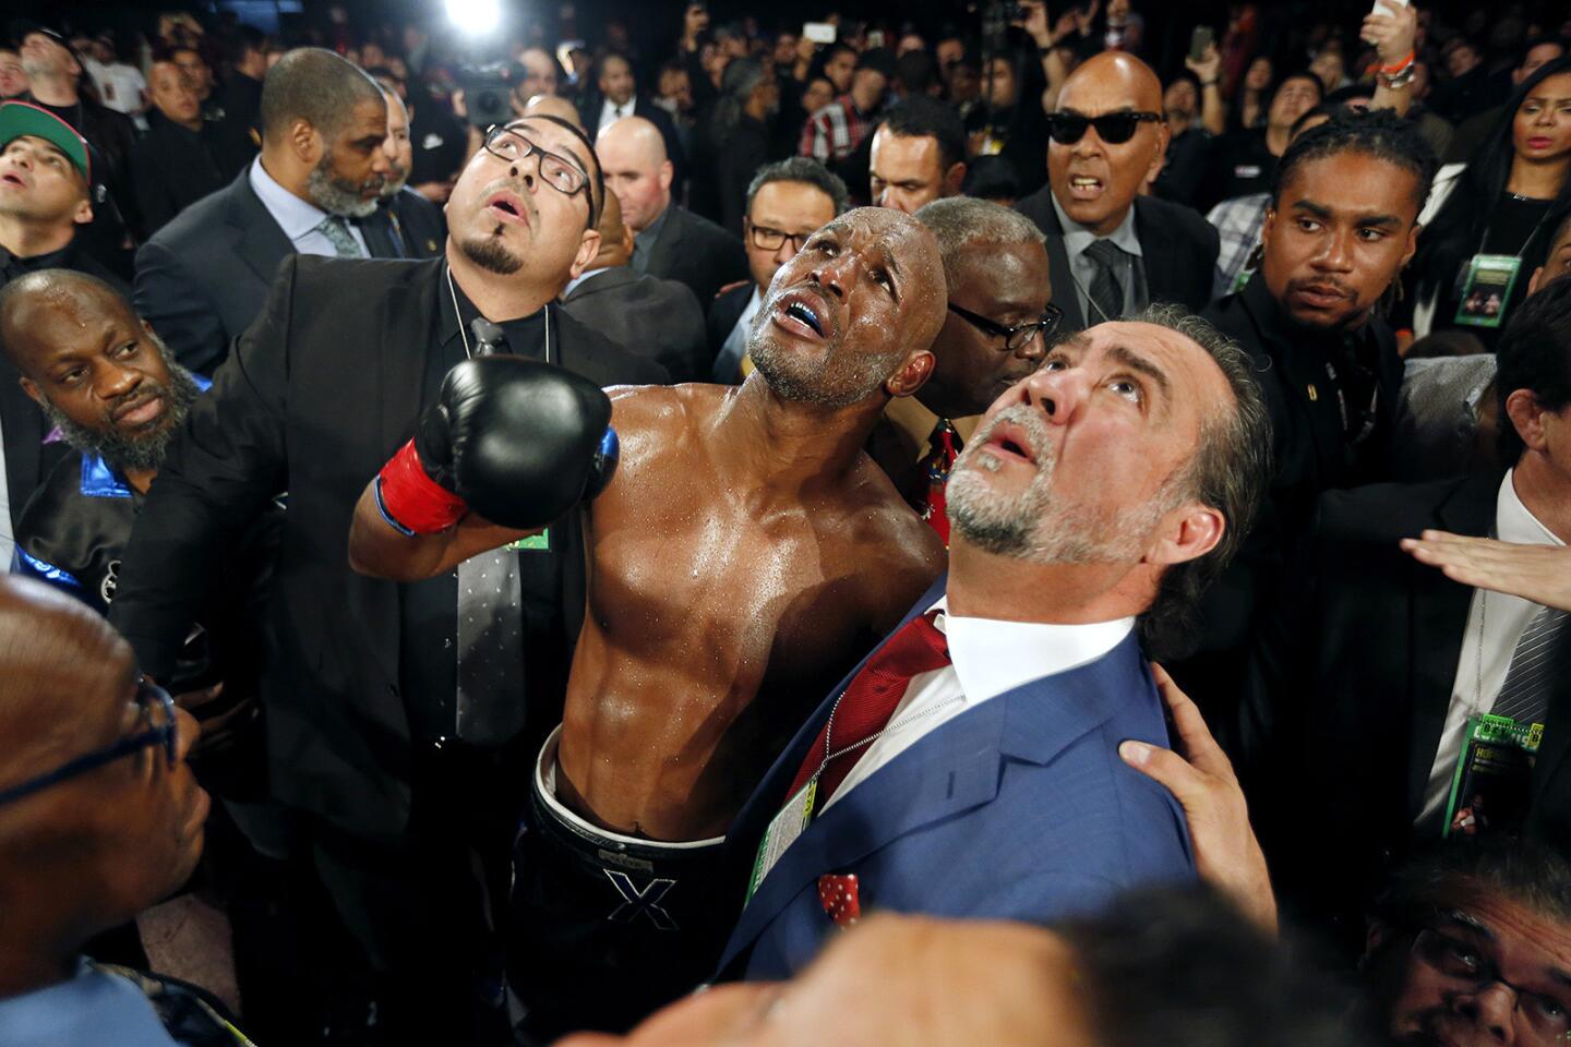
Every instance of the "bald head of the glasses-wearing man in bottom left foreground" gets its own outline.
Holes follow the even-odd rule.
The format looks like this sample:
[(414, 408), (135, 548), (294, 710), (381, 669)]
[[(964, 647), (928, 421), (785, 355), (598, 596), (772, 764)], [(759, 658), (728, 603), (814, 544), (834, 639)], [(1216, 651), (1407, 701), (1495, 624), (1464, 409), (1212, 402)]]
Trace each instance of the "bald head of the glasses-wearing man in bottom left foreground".
[[(140, 699), (130, 647), (101, 615), (41, 582), (0, 578), (0, 791), (127, 738), (162, 742), (149, 728), (167, 724), (162, 702)], [(8, 975), (69, 970), (88, 937), (190, 876), (207, 796), (184, 766), (195, 720), (178, 713), (174, 725), (174, 766), (162, 744), (137, 746), (0, 805)]]

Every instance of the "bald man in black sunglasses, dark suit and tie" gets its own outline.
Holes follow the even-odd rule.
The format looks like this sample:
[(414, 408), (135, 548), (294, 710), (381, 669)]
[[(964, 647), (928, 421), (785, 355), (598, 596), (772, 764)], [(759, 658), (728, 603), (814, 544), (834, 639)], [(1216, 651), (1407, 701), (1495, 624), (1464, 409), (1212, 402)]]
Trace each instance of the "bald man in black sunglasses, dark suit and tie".
[(1150, 66), (1104, 52), (1070, 74), (1048, 116), (1048, 185), (1015, 207), (1048, 234), (1067, 331), (1153, 301), (1200, 309), (1211, 297), (1216, 229), (1188, 207), (1139, 195), (1167, 149), (1161, 110)]

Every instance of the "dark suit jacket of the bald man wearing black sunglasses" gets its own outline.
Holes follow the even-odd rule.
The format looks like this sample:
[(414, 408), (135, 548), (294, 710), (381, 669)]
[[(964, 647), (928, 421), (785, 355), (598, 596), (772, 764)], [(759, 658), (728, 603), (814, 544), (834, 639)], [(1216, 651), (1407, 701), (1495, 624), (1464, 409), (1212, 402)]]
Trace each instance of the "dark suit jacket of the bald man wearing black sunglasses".
[[(1065, 331), (1086, 328), (1070, 256), (1064, 250), (1064, 226), (1053, 209), (1053, 185), (1043, 185), (1018, 201), (1015, 210), (1037, 223), (1048, 234), (1048, 270), (1053, 279), (1053, 305), (1064, 309)], [(1152, 301), (1172, 301), (1200, 311), (1211, 300), (1211, 276), (1221, 240), (1216, 228), (1189, 207), (1170, 204), (1155, 196), (1134, 198), (1134, 235), (1141, 242), (1145, 262), (1145, 287)]]

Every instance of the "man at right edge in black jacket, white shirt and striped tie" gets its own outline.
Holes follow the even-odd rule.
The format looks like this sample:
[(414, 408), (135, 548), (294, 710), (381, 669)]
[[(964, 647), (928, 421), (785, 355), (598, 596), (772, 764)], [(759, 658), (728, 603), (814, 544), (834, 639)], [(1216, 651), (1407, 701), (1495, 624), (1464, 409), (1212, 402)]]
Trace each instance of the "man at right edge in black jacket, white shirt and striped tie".
[[(1521, 830), (1571, 849), (1568, 615), (1469, 589), (1403, 551), (1425, 529), (1571, 540), (1571, 283), (1525, 301), (1499, 345), (1500, 457), (1511, 469), (1331, 491), (1257, 645), (1240, 771), (1290, 912), (1362, 943), (1368, 892), (1445, 832)], [(1475, 716), (1541, 724), (1536, 761), (1475, 805)], [(1503, 768), (1510, 753), (1492, 763)], [(1491, 763), (1486, 760), (1486, 763)], [(1519, 764), (1521, 766), (1521, 764)]]

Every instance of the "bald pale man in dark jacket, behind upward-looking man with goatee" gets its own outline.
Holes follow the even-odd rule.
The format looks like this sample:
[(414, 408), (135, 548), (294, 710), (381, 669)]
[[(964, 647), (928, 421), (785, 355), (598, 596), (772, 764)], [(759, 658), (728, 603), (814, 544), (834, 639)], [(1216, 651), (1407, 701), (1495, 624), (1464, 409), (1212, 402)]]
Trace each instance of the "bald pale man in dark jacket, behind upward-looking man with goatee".
[(622, 221), (633, 231), (635, 270), (680, 281), (699, 301), (746, 278), (742, 240), (672, 199), (671, 160), (654, 124), (624, 116), (595, 149), (605, 160), (606, 188), (622, 202)]

